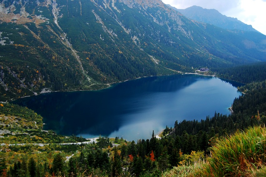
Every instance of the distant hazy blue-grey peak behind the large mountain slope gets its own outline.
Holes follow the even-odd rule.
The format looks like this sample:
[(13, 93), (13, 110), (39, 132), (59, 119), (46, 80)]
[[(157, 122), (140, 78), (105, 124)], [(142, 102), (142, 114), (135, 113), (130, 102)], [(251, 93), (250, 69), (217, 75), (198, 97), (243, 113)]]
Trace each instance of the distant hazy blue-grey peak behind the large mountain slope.
[(206, 9), (199, 6), (192, 6), (186, 9), (176, 9), (176, 10), (185, 15), (187, 18), (196, 20), (198, 22), (213, 24), (223, 29), (230, 29), (230, 30), (236, 29), (243, 31), (258, 32), (256, 29), (252, 28), (251, 25), (247, 25), (239, 21), (237, 18), (227, 17), (219, 13), (215, 9)]

